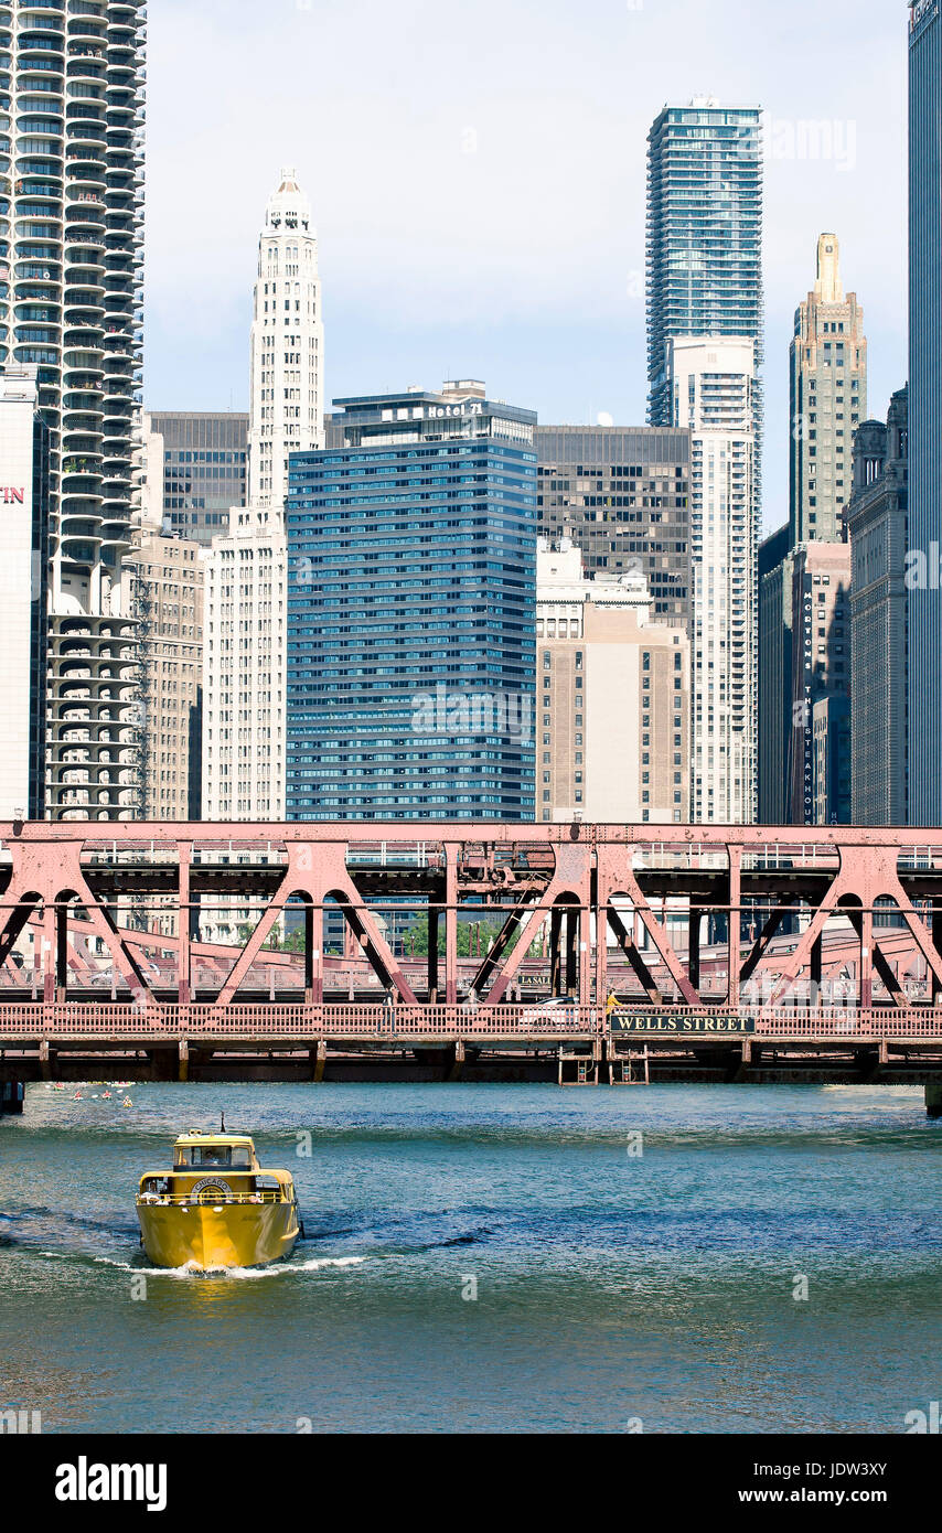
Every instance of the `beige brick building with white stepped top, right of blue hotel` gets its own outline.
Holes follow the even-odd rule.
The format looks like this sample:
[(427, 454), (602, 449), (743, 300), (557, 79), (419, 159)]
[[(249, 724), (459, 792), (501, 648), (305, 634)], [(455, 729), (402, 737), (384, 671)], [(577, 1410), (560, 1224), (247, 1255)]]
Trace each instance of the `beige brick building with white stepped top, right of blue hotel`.
[(537, 681), (537, 819), (686, 820), (690, 642), (652, 621), (643, 575), (589, 576), (543, 540)]

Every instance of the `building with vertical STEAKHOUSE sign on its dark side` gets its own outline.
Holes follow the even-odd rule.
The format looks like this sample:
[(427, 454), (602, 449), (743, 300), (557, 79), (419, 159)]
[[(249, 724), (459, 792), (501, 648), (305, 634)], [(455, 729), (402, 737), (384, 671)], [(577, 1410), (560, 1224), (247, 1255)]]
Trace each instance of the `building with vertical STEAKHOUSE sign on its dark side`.
[(850, 544), (793, 553), (790, 825), (850, 822)]

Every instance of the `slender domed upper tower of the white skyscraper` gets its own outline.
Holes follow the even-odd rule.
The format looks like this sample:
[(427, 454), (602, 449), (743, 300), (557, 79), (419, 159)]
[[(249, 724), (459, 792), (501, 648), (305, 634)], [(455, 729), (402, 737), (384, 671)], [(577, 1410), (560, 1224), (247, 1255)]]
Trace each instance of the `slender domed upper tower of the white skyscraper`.
[(295, 170), (282, 170), (258, 242), (252, 323), (249, 504), (282, 510), (288, 452), (324, 446), (318, 236)]

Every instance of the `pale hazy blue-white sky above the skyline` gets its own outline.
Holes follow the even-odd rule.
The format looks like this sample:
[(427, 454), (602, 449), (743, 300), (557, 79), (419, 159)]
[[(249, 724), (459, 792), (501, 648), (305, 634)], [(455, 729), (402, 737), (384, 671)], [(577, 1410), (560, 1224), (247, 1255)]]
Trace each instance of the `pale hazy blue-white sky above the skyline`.
[(643, 423), (646, 135), (666, 101), (710, 94), (767, 113), (778, 526), (789, 339), (822, 230), (864, 305), (868, 414), (905, 382), (907, 14), (904, 0), (153, 0), (146, 403), (247, 408), (258, 230), (296, 166), (328, 400), (480, 377), (543, 422)]

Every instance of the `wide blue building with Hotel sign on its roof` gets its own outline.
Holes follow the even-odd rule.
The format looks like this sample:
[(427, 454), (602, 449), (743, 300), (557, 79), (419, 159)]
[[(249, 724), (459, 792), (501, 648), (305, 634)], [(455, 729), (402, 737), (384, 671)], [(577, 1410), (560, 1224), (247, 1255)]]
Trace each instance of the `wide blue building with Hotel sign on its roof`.
[(288, 820), (532, 820), (535, 414), (334, 400), (290, 460)]

